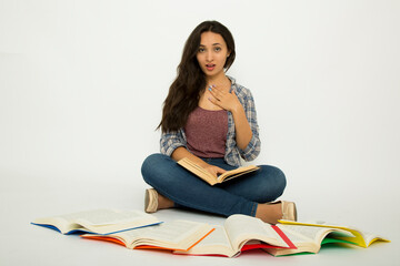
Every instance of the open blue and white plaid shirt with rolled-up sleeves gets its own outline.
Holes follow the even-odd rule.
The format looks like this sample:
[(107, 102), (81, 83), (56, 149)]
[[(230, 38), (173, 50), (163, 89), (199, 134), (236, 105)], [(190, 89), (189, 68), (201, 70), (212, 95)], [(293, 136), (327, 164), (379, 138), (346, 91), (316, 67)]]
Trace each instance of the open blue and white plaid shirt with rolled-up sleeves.
[[(228, 112), (228, 134), (224, 161), (230, 165), (240, 166), (240, 157), (242, 157), (244, 161), (252, 161), (259, 155), (261, 142), (259, 137), (259, 126), (257, 123), (254, 99), (252, 98), (250, 90), (236, 83), (236, 80), (233, 78), (228, 78), (232, 83), (230, 91), (234, 90), (240, 103), (244, 109), (246, 117), (252, 131), (252, 137), (248, 146), (244, 150), (239, 149), (236, 143), (233, 115), (231, 112)], [(186, 147), (186, 143), (187, 137), (184, 135), (183, 129), (180, 129), (177, 132), (164, 132), (161, 134), (160, 139), (160, 151), (162, 154), (171, 156), (171, 154), (177, 147)]]

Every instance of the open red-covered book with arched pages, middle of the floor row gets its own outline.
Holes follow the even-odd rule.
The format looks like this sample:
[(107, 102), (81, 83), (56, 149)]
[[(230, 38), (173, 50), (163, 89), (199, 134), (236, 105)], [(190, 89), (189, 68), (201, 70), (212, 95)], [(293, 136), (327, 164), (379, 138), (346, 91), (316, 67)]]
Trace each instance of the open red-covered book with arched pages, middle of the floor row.
[(279, 228), (251, 216), (234, 214), (226, 219), (223, 226), (213, 227), (216, 229), (190, 250), (174, 254), (234, 257), (244, 249), (296, 248)]

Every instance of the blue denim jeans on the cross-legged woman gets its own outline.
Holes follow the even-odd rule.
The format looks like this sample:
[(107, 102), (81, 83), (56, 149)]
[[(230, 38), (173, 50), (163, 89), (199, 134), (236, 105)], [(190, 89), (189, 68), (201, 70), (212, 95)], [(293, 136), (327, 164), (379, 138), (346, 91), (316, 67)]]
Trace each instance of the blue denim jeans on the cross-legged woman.
[[(203, 158), (224, 170), (233, 170), (223, 158)], [(256, 216), (258, 203), (272, 202), (282, 195), (286, 177), (274, 166), (259, 165), (260, 170), (226, 183), (208, 183), (177, 164), (164, 154), (152, 154), (142, 164), (142, 175), (158, 193), (174, 202), (177, 207), (189, 207), (223, 216), (244, 214)]]

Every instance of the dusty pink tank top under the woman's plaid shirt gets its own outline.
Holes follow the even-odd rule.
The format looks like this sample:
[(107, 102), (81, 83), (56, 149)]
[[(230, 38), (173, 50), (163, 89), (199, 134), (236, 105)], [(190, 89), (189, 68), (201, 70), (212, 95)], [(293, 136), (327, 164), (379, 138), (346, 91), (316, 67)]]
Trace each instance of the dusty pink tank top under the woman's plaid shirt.
[(227, 133), (226, 110), (211, 111), (198, 106), (189, 114), (184, 126), (187, 147), (200, 157), (223, 157)]

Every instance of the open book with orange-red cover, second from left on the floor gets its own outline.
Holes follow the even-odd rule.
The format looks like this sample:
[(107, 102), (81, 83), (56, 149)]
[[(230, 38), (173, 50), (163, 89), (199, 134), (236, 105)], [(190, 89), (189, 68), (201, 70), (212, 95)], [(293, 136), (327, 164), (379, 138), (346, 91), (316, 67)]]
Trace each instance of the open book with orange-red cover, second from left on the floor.
[(213, 231), (213, 227), (190, 221), (177, 219), (159, 225), (124, 231), (111, 235), (82, 235), (83, 238), (107, 241), (128, 248), (189, 250)]

